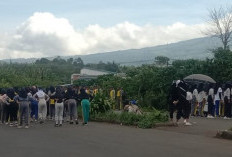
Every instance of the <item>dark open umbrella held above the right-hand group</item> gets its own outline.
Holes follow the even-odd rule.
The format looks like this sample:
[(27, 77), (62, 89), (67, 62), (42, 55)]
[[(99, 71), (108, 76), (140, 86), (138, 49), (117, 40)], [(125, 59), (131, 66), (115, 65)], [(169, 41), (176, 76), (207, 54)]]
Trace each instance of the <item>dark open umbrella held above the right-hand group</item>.
[(216, 83), (214, 79), (203, 74), (192, 74), (184, 78), (186, 82)]

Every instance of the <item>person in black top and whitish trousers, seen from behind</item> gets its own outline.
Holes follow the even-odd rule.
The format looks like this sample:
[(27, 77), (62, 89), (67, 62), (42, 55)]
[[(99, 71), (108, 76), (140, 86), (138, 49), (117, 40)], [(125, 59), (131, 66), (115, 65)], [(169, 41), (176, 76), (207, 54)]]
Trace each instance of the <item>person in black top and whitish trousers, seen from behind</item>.
[(60, 87), (56, 88), (55, 98), (55, 127), (62, 126), (64, 114), (64, 93)]

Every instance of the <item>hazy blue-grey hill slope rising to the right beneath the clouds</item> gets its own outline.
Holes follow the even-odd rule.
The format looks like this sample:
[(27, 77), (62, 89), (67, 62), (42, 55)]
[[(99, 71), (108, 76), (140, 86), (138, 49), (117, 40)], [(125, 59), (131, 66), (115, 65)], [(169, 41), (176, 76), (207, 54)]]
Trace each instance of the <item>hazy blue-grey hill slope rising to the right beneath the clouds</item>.
[[(156, 56), (167, 56), (171, 60), (175, 59), (205, 59), (212, 57), (211, 50), (221, 47), (221, 43), (217, 38), (196, 38), (181, 41), (172, 44), (159, 45), (154, 47), (146, 47), (141, 49), (129, 49), (113, 52), (104, 52), (90, 55), (63, 56), (62, 58), (81, 57), (84, 63), (116, 62), (121, 65), (141, 65), (154, 62)], [(53, 59), (49, 57), (48, 59)], [(11, 59), (11, 62), (33, 63), (36, 58), (30, 59)], [(10, 62), (10, 60), (4, 60)]]

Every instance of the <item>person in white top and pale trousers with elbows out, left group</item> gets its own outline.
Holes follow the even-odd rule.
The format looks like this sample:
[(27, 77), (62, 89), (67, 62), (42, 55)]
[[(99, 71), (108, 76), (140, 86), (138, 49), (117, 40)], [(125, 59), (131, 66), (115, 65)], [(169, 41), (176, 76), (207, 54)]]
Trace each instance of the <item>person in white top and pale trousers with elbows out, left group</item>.
[(40, 124), (44, 123), (47, 117), (47, 101), (49, 100), (49, 96), (43, 92), (42, 89), (39, 89), (34, 98), (37, 99), (38, 103), (38, 115)]

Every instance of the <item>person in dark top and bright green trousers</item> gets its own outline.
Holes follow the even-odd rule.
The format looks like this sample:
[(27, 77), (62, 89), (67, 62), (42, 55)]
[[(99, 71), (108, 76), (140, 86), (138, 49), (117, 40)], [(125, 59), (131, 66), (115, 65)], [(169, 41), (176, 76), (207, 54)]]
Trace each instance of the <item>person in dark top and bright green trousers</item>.
[(85, 92), (84, 88), (81, 88), (78, 98), (81, 101), (81, 106), (82, 106), (83, 125), (87, 125), (89, 121), (89, 112), (90, 112), (89, 100), (91, 96)]

